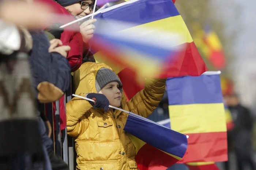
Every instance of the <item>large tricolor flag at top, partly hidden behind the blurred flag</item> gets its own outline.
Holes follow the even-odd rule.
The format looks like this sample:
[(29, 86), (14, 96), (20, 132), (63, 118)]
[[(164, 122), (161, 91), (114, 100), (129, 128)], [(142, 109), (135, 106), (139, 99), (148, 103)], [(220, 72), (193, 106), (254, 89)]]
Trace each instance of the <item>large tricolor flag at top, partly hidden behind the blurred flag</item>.
[[(183, 42), (177, 44), (177, 46), (184, 46), (185, 51), (180, 54), (178, 60), (171, 60), (169, 61), (171, 62), (170, 64), (166, 61), (166, 66), (168, 67), (163, 71), (163, 75), (161, 75), (162, 77), (184, 75), (198, 76), (207, 71), (206, 65), (197, 51), (184, 20), (170, 0), (131, 0), (102, 10), (102, 13), (95, 18), (97, 17), (105, 20), (106, 23), (110, 20), (132, 23), (130, 24), (132, 27), (122, 28), (124, 32), (146, 27), (153, 29), (155, 33), (165, 31), (183, 35), (185, 39), (182, 40)], [(97, 25), (95, 25), (95, 32), (97, 32), (97, 29), (99, 28)], [(109, 26), (111, 27), (111, 24), (109, 24)], [(114, 27), (111, 28), (112, 32), (122, 31)], [(145, 32), (144, 36), (147, 33), (148, 32)], [(150, 33), (153, 34), (154, 32)], [(128, 99), (144, 87), (142, 84), (131, 83), (136, 80), (137, 72), (130, 68), (125, 68), (125, 64), (120, 64), (120, 61), (118, 60), (110, 60), (108, 56), (102, 54), (102, 51), (94, 52), (94, 57), (97, 62), (106, 63), (118, 73), (118, 76), (120, 76), (120, 79), (123, 82), (124, 92), (129, 95), (127, 96)]]

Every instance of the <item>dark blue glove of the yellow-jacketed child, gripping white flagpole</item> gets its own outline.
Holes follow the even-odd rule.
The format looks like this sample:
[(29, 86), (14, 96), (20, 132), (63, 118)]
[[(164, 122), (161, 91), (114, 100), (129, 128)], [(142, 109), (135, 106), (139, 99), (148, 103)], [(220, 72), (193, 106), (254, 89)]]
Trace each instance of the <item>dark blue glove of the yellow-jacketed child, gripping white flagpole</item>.
[(98, 93), (89, 93), (86, 95), (87, 98), (93, 99), (95, 102), (89, 101), (89, 103), (93, 106), (94, 109), (96, 108), (104, 108), (104, 111), (109, 110), (109, 100), (107, 97), (103, 94), (98, 94)]

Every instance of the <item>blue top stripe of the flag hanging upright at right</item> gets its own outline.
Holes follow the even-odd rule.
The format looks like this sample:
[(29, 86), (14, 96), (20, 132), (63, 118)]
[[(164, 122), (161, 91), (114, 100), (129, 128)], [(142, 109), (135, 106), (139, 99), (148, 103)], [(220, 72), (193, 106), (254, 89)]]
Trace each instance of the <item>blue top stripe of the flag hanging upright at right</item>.
[(166, 87), (169, 105), (223, 102), (219, 75), (168, 78)]

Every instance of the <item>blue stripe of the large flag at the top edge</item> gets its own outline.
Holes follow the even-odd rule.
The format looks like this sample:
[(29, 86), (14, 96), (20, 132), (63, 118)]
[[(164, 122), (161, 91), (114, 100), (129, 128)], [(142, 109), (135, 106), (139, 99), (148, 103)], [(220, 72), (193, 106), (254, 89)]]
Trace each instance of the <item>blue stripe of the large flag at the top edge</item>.
[[(171, 0), (139, 0), (102, 13), (103, 18), (106, 20), (133, 23), (135, 24), (133, 26), (177, 15), (180, 15), (180, 13)], [(120, 31), (118, 29), (120, 28), (113, 27), (114, 32)]]

